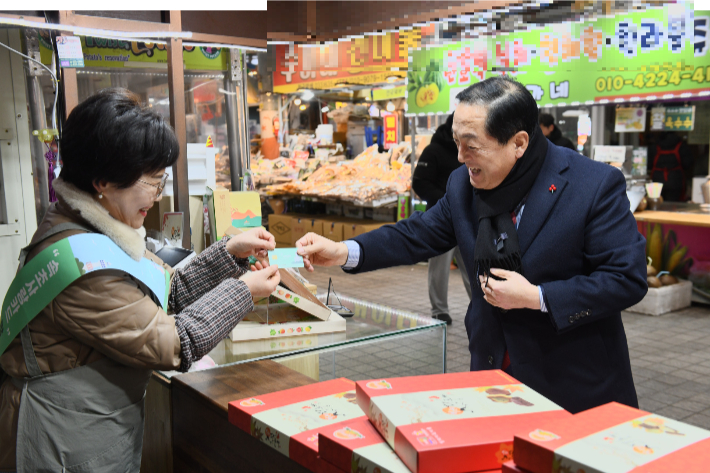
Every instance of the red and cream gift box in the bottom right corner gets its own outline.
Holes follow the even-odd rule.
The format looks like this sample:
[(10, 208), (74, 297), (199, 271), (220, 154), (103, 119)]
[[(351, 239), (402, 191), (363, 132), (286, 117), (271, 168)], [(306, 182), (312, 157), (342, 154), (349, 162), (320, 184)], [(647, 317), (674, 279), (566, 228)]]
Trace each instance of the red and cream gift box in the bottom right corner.
[(700, 473), (709, 463), (710, 431), (615, 402), (515, 436), (515, 464), (532, 473)]

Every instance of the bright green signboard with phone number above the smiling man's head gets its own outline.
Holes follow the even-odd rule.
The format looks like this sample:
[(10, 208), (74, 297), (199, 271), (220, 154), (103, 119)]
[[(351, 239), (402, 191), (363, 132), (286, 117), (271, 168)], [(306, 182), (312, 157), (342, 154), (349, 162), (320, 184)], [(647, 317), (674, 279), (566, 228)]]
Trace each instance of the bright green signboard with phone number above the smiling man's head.
[(412, 51), (407, 115), (450, 113), (466, 87), (500, 74), (540, 106), (710, 95), (710, 11), (678, 3)]

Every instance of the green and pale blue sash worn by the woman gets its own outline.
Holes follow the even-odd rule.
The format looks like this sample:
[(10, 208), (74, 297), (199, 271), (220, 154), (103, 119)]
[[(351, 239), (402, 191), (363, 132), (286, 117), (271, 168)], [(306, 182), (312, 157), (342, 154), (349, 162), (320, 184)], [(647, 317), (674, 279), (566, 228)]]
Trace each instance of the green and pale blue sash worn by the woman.
[(170, 274), (148, 258), (135, 261), (109, 237), (81, 233), (60, 240), (25, 264), (10, 284), (0, 313), (0, 355), (67, 286), (94, 271), (124, 271), (167, 310)]

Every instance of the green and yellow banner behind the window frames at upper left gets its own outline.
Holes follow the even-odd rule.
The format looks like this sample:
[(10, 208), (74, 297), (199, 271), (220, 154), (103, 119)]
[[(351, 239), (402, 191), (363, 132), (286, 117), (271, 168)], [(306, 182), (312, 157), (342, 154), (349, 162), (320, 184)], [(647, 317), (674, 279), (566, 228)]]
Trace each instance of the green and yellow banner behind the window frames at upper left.
[[(52, 62), (49, 36), (40, 31), (40, 57), (43, 64)], [(165, 44), (120, 41), (115, 39), (81, 37), (85, 67), (150, 67), (152, 64), (167, 64)], [(183, 46), (182, 58), (187, 70), (226, 71), (229, 69), (229, 54), (221, 48)]]

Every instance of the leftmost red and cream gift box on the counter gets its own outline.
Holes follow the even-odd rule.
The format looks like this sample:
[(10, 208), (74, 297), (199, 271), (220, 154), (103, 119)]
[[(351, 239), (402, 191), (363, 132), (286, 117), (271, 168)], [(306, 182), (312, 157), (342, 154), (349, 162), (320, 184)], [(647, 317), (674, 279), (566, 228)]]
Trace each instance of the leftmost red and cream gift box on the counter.
[(229, 421), (311, 471), (318, 429), (362, 417), (354, 383), (340, 378), (229, 403)]

